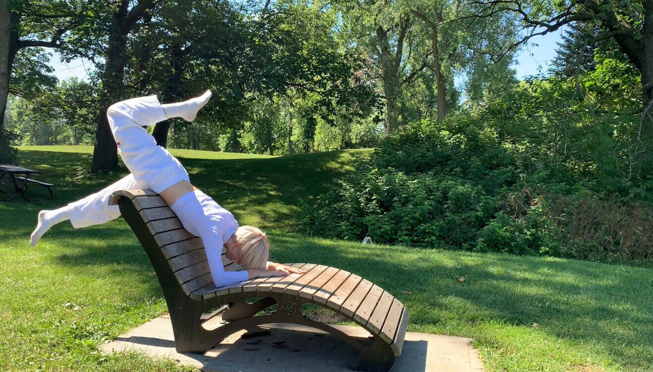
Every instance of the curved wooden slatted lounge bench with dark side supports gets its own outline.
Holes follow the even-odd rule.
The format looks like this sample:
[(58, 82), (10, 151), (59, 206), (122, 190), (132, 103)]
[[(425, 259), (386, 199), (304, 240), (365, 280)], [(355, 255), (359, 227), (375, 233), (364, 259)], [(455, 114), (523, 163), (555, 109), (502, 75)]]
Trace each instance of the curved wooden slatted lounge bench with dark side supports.
[[(155, 269), (168, 303), (178, 352), (204, 353), (225, 337), (261, 324), (295, 323), (324, 330), (355, 347), (362, 367), (387, 371), (402, 352), (408, 312), (382, 288), (358, 275), (314, 263), (293, 263), (303, 275), (250, 279), (215, 288), (206, 253), (199, 237), (185, 229), (161, 197), (151, 190), (115, 192), (110, 205), (120, 212), (138, 237)], [(224, 256), (225, 271), (242, 267)], [(261, 298), (254, 303), (245, 299)], [(259, 311), (277, 304), (273, 314)], [(372, 337), (359, 340), (336, 328), (304, 318), (301, 307), (315, 303), (342, 314), (368, 330)], [(202, 322), (218, 309), (227, 323), (206, 330)], [(213, 314), (212, 314), (213, 315)]]

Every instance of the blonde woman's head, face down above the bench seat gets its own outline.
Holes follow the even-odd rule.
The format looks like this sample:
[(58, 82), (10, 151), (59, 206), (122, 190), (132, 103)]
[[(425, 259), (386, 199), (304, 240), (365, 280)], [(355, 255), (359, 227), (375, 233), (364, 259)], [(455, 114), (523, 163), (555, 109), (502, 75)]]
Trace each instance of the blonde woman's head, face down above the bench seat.
[(265, 269), (270, 255), (270, 241), (265, 233), (254, 226), (240, 226), (225, 242), (229, 260), (243, 269)]

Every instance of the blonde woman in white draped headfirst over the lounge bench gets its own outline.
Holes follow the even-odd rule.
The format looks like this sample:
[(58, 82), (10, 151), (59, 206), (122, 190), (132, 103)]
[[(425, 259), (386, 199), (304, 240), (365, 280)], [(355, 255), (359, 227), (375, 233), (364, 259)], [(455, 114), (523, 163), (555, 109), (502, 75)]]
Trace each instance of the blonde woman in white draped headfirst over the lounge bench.
[[(144, 128), (168, 118), (181, 117), (192, 122), (210, 97), (211, 92), (207, 91), (188, 101), (161, 105), (155, 95), (150, 95), (111, 105), (106, 116), (118, 144), (118, 153), (131, 174), (65, 207), (40, 211), (37, 228), (31, 234), (31, 245), (35, 246), (48, 229), (65, 220), (70, 220), (73, 228), (114, 220), (120, 216), (120, 211), (118, 206), (108, 205), (113, 192), (150, 188), (161, 195), (185, 229), (202, 239), (215, 286), (255, 277), (304, 273), (295, 267), (268, 262), (270, 243), (265, 233), (253, 226), (238, 227), (231, 212), (195, 188), (182, 164), (168, 150), (158, 146)], [(244, 271), (224, 271), (223, 247), (225, 256), (240, 263)]]

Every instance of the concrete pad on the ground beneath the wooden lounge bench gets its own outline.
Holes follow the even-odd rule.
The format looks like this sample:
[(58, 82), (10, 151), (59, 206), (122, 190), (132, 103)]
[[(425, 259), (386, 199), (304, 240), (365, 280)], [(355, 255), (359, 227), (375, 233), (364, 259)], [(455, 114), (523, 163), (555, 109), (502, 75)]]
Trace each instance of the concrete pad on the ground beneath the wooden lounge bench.
[[(207, 328), (221, 324), (215, 316)], [(358, 326), (330, 324), (353, 337), (370, 333)], [(227, 337), (206, 354), (178, 353), (174, 349), (170, 316), (165, 314), (101, 345), (104, 354), (121, 351), (142, 351), (154, 357), (194, 365), (202, 371), (351, 371), (357, 352), (351, 345), (315, 328), (297, 324), (266, 324), (260, 330), (269, 335), (242, 338), (247, 331)], [(256, 331), (256, 330), (249, 330)], [(466, 337), (407, 332), (402, 354), (390, 371), (483, 371), (478, 350)]]

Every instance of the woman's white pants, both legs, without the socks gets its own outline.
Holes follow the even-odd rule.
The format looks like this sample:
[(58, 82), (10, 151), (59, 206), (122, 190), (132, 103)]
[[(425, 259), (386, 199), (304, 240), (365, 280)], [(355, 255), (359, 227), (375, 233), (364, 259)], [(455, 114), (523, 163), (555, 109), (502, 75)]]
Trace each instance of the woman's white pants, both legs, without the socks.
[(181, 180), (189, 180), (182, 164), (168, 150), (157, 146), (154, 137), (143, 127), (167, 119), (155, 95), (114, 103), (106, 111), (106, 117), (118, 143), (118, 153), (131, 174), (70, 203), (68, 212), (74, 228), (104, 224), (118, 218), (118, 206), (108, 205), (115, 191), (150, 188), (158, 193)]

